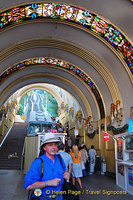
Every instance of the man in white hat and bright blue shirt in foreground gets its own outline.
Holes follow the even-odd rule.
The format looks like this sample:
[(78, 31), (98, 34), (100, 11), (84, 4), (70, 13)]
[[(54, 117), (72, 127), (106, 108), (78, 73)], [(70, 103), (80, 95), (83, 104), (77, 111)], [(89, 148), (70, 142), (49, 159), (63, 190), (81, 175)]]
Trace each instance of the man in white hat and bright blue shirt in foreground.
[[(40, 200), (63, 200), (63, 196), (59, 192), (62, 190), (64, 178), (66, 180), (70, 178), (70, 174), (65, 171), (66, 167), (63, 159), (61, 158), (62, 167), (60, 159), (56, 155), (58, 142), (59, 140), (55, 137), (54, 133), (46, 133), (42, 144), (45, 152), (33, 161), (29, 171), (25, 175), (24, 188), (26, 190), (39, 189), (42, 194), (37, 198)], [(41, 178), (42, 162), (44, 169)], [(33, 194), (33, 199), (37, 198)]]

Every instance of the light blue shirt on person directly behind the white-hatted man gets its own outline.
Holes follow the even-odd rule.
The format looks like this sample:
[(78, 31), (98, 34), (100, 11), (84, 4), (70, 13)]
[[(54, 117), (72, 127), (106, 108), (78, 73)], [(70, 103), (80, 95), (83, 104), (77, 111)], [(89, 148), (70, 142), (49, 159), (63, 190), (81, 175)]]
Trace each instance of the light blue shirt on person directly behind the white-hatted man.
[(66, 166), (66, 171), (68, 171), (68, 166), (69, 164), (72, 164), (72, 157), (70, 156), (69, 153), (66, 153), (65, 151), (58, 151), (57, 154), (60, 154), (61, 157), (63, 158), (64, 160), (64, 163), (65, 163), (65, 166)]

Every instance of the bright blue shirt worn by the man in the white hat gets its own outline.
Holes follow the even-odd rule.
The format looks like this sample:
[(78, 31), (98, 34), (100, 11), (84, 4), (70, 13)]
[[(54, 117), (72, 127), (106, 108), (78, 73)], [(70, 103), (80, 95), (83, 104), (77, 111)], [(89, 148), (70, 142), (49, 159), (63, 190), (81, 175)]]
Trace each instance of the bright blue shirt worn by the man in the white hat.
[(64, 161), (62, 159), (62, 165), (60, 163), (60, 160), (57, 155), (55, 155), (55, 162), (46, 156), (46, 154), (40, 156), (43, 159), (44, 163), (44, 170), (43, 170), (43, 177), (41, 180), (41, 166), (42, 162), (41, 159), (37, 158), (33, 161), (29, 171), (25, 175), (24, 181), (24, 188), (26, 189), (29, 185), (37, 182), (37, 181), (48, 181), (52, 180), (55, 178), (60, 178), (61, 183), (58, 186), (50, 186), (50, 187), (45, 187), (42, 188), (42, 195), (47, 194), (46, 191), (50, 191), (49, 194), (54, 194), (54, 191), (61, 191), (62, 189), (62, 184), (64, 182), (63, 174), (66, 169)]

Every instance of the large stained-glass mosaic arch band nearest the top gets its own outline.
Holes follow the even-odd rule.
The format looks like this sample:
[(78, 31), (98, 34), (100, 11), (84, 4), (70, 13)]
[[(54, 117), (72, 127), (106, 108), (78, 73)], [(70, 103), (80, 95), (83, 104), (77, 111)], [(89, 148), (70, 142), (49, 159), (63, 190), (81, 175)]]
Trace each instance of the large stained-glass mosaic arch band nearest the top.
[(82, 8), (59, 3), (33, 3), (0, 13), (0, 31), (5, 27), (32, 19), (70, 21), (94, 31), (110, 43), (122, 56), (133, 73), (133, 46), (109, 21)]

